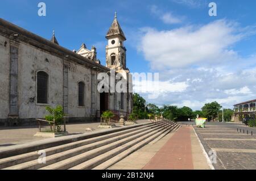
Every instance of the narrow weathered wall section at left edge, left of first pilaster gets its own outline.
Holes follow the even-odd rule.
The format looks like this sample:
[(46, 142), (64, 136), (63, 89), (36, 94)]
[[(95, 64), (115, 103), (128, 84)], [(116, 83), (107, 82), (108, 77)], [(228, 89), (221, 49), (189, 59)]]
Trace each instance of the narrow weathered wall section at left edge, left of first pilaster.
[(0, 119), (7, 119), (9, 113), (10, 43), (6, 37), (1, 35), (0, 60)]

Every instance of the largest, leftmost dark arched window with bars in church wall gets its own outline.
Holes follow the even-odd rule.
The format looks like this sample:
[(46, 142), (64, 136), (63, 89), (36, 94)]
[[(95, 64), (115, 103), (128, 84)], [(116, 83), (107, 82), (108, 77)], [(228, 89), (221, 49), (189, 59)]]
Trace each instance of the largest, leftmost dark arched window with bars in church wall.
[(37, 74), (37, 102), (48, 103), (48, 74), (44, 71), (39, 71)]

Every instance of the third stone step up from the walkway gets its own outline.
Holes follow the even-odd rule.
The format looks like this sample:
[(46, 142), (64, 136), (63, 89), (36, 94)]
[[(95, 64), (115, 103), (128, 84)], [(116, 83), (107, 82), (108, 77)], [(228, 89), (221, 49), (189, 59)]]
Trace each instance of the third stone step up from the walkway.
[(142, 137), (142, 136), (149, 136), (151, 134), (155, 134), (156, 132), (159, 132), (159, 130), (163, 129), (161, 125), (159, 125), (156, 128), (153, 128), (151, 130), (148, 131), (144, 131), (142, 133), (139, 134), (134, 134), (133, 136), (124, 138), (122, 140), (113, 142), (112, 144), (108, 144), (105, 146), (102, 146), (100, 148), (97, 149), (93, 149), (90, 151), (86, 151), (85, 153), (76, 155), (75, 157), (71, 157), (69, 159), (65, 159), (63, 161), (60, 162), (56, 162), (53, 163), (52, 165), (43, 167), (42, 170), (64, 170), (64, 169), (69, 169), (71, 167), (74, 167), (76, 165), (81, 164), (82, 162), (86, 162), (90, 159), (93, 159), (94, 157), (97, 157), (98, 155), (101, 154), (105, 154), (106, 152), (113, 150), (115, 148), (118, 148), (119, 146), (122, 146), (124, 144), (127, 144), (130, 141), (133, 141), (135, 139), (137, 139), (138, 137)]

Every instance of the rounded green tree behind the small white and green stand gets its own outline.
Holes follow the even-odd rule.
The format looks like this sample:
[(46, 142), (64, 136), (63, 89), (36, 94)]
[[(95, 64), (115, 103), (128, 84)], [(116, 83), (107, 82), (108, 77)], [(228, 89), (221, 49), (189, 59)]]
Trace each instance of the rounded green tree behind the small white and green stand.
[(218, 111), (222, 106), (218, 104), (217, 102), (207, 103), (202, 107), (202, 111), (204, 112), (205, 116), (208, 120), (214, 120), (217, 117)]

